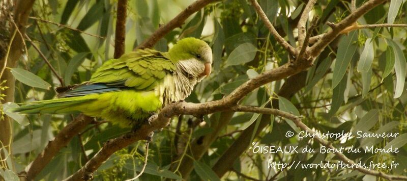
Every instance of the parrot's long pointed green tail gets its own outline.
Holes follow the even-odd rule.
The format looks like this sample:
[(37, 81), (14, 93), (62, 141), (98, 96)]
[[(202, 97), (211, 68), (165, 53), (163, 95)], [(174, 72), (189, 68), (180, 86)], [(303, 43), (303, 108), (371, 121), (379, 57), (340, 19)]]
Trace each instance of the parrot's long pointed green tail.
[(19, 108), (15, 108), (10, 110), (11, 112), (20, 112), (24, 114), (38, 114), (38, 113), (45, 113), (45, 114), (70, 114), (78, 112), (79, 110), (75, 109), (75, 106), (79, 104), (92, 100), (93, 98), (86, 97), (86, 96), (78, 96), (78, 97), (67, 97), (67, 98), (59, 98), (59, 99), (51, 99), (51, 100), (41, 100), (41, 101), (34, 101), (29, 102), (26, 105), (22, 105)]

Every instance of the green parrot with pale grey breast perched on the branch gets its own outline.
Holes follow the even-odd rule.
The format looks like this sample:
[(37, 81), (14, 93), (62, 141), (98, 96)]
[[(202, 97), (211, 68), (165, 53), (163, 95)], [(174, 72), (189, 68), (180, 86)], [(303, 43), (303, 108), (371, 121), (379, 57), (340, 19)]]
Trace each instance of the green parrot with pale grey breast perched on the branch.
[(29, 102), (13, 112), (81, 112), (137, 128), (162, 107), (188, 97), (194, 86), (209, 76), (211, 65), (211, 47), (205, 41), (184, 38), (165, 53), (138, 49), (108, 60), (89, 82), (72, 86), (56, 99)]

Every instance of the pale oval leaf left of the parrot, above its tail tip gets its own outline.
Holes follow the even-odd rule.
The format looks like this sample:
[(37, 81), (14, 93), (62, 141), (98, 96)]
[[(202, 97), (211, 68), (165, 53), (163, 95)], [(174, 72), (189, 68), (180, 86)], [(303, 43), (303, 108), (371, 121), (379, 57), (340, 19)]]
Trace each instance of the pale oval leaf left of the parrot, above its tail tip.
[(27, 70), (21, 68), (11, 68), (11, 73), (18, 81), (25, 85), (46, 90), (49, 90), (51, 87), (50, 84), (42, 80), (39, 76)]

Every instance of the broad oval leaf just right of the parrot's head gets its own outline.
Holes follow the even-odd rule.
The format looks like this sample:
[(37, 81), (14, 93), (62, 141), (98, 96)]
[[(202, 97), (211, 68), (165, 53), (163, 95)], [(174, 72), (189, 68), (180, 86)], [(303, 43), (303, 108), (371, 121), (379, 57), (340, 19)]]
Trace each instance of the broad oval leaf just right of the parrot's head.
[(227, 58), (226, 66), (250, 62), (256, 56), (257, 48), (251, 43), (243, 43), (235, 48)]

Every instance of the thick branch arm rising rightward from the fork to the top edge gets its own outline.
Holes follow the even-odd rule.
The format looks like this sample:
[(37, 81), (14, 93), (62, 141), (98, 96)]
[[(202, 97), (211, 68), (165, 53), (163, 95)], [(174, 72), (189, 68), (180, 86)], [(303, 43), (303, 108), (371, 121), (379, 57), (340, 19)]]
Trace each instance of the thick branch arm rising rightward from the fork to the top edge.
[(361, 16), (373, 9), (374, 7), (386, 2), (386, 0), (370, 0), (359, 7), (355, 12), (346, 16), (342, 21), (334, 25), (334, 28), (319, 39), (310, 49), (311, 57), (317, 57), (321, 51), (333, 41), (342, 30), (355, 23)]

